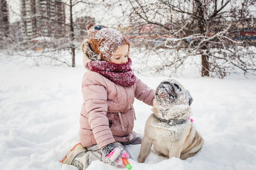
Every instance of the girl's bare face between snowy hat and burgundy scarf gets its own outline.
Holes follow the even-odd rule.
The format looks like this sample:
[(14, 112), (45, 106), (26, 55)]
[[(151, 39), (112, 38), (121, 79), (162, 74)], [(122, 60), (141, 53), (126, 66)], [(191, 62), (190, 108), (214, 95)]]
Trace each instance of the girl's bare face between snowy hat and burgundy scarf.
[(110, 62), (115, 64), (125, 64), (128, 62), (129, 46), (127, 44), (117, 48), (113, 56), (109, 59)]

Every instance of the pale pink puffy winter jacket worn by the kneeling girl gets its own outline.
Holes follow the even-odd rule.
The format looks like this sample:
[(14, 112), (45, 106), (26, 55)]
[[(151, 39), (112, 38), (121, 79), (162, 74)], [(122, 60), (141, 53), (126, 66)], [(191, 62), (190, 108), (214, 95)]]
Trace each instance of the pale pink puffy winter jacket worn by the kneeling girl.
[(99, 148), (115, 141), (129, 141), (134, 126), (134, 97), (153, 106), (154, 90), (136, 78), (131, 87), (117, 85), (99, 73), (86, 71), (82, 82), (80, 142)]

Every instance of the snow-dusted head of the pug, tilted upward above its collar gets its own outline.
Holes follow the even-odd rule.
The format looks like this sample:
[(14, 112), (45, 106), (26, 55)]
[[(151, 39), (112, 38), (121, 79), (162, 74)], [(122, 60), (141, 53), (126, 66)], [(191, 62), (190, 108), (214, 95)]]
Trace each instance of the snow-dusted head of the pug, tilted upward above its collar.
[[(189, 106), (192, 103), (193, 98), (190, 96), (188, 90), (176, 80), (164, 80), (156, 89), (156, 99), (154, 101), (154, 107), (157, 110), (169, 110), (174, 117), (179, 117), (179, 114), (188, 112)], [(158, 111), (157, 111), (158, 112)], [(164, 111), (165, 114), (167, 113)], [(170, 118), (171, 115), (161, 115), (165, 118)]]

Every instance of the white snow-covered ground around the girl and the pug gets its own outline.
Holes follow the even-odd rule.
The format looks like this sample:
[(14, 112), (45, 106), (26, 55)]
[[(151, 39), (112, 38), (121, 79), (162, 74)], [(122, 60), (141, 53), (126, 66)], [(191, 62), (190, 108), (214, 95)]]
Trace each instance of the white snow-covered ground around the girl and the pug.
[[(0, 60), (0, 169), (77, 169), (59, 160), (79, 142), (84, 71)], [(167, 79), (137, 76), (154, 89)], [(192, 118), (205, 144), (187, 160), (151, 152), (143, 164), (136, 161), (140, 145), (129, 146), (132, 169), (256, 169), (256, 78), (175, 79), (194, 97)], [(134, 108), (134, 131), (143, 134), (151, 107), (135, 101)], [(88, 169), (118, 168), (95, 161)]]

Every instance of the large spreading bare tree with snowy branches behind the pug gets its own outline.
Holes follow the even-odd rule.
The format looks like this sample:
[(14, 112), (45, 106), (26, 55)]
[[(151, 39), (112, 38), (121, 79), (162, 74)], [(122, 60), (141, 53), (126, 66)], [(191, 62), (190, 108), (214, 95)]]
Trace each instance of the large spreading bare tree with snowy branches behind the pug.
[(191, 57), (200, 57), (202, 76), (223, 78), (234, 69), (256, 71), (255, 40), (241, 39), (245, 29), (256, 32), (255, 1), (128, 1), (135, 37), (141, 36), (141, 29), (154, 26), (146, 36), (144, 32), (144, 40), (163, 61), (156, 71), (168, 67), (177, 71)]

